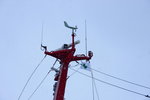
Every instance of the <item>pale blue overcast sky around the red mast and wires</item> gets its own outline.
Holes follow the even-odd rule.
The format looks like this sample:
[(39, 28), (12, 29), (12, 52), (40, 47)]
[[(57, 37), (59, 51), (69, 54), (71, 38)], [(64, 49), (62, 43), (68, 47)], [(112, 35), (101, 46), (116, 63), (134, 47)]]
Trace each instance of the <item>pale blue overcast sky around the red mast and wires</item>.
[[(44, 44), (55, 50), (71, 42), (63, 21), (77, 25), (77, 53), (85, 53), (84, 21), (93, 68), (150, 87), (150, 0), (0, 0), (0, 100), (17, 100), (29, 75), (44, 56), (40, 50), (42, 22)], [(33, 76), (21, 100), (27, 100), (54, 62), (47, 57)], [(75, 65), (75, 63), (72, 63)], [(59, 66), (57, 64), (56, 66)], [(80, 70), (90, 75), (88, 71)], [(69, 74), (73, 71), (69, 70)], [(54, 72), (31, 100), (53, 100)], [(94, 76), (143, 94), (150, 90), (94, 72)], [(96, 82), (100, 100), (149, 100)], [(78, 73), (70, 77), (66, 100), (92, 100), (91, 79)], [(97, 100), (97, 99), (95, 99)]]

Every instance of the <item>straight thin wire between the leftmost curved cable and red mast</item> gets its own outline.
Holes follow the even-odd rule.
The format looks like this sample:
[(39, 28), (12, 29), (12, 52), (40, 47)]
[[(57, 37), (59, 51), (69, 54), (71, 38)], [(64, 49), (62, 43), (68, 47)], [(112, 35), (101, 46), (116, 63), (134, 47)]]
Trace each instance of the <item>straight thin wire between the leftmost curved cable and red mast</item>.
[(54, 64), (52, 65), (52, 67), (50, 68), (50, 70), (48, 71), (48, 73), (45, 75), (45, 77), (42, 79), (42, 81), (40, 82), (40, 84), (36, 87), (36, 89), (33, 91), (33, 93), (29, 96), (28, 100), (30, 100), (32, 98), (32, 96), (35, 94), (35, 92), (39, 89), (39, 87), (45, 81), (45, 79), (47, 78), (47, 76), (49, 75), (49, 73), (52, 71), (52, 68), (55, 66), (55, 64), (56, 64), (57, 61), (58, 61), (58, 59), (56, 59), (56, 61), (54, 62)]

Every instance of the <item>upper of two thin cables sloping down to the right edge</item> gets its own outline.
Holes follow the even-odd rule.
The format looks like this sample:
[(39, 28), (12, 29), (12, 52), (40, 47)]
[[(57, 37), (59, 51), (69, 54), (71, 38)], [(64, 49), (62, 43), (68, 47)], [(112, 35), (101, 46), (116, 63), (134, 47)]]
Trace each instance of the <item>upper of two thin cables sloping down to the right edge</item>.
[(136, 85), (136, 86), (139, 86), (139, 87), (143, 87), (143, 88), (146, 88), (146, 89), (150, 89), (150, 87), (143, 86), (143, 85), (140, 85), (140, 84), (137, 84), (137, 83), (131, 82), (131, 81), (127, 81), (127, 80), (125, 80), (125, 79), (121, 79), (121, 78), (118, 78), (118, 77), (116, 77), (116, 76), (112, 76), (112, 75), (110, 75), (110, 74), (107, 74), (107, 73), (104, 73), (104, 72), (101, 72), (101, 71), (95, 70), (95, 69), (93, 69), (93, 68), (91, 68), (91, 69), (92, 69), (93, 71), (96, 71), (96, 72), (100, 73), (100, 74), (103, 74), (103, 75), (106, 75), (106, 76), (109, 76), (109, 77), (115, 78), (115, 79), (117, 79), (117, 80), (120, 80), (120, 81), (123, 81), (123, 82), (126, 82), (126, 83), (130, 83), (130, 84), (133, 84), (133, 85)]

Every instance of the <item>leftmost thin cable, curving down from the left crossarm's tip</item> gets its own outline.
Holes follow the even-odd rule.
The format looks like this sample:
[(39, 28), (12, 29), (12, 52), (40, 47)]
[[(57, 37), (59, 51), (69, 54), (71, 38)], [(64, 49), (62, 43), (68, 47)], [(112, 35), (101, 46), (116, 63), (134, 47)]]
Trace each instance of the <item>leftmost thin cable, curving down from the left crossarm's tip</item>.
[(44, 58), (39, 62), (39, 64), (36, 66), (36, 68), (35, 68), (35, 69), (33, 70), (33, 72), (31, 73), (30, 77), (28, 78), (27, 82), (25, 83), (25, 85), (24, 85), (24, 87), (23, 87), (23, 89), (22, 89), (22, 91), (21, 91), (21, 93), (20, 93), (20, 95), (19, 95), (19, 97), (18, 97), (18, 100), (20, 100), (20, 98), (21, 98), (21, 96), (22, 96), (22, 94), (23, 94), (25, 88), (27, 87), (29, 81), (31, 80), (33, 74), (36, 72), (36, 70), (38, 69), (38, 67), (41, 65), (41, 63), (43, 62), (43, 60), (44, 60), (45, 58), (46, 58), (46, 55), (44, 56)]

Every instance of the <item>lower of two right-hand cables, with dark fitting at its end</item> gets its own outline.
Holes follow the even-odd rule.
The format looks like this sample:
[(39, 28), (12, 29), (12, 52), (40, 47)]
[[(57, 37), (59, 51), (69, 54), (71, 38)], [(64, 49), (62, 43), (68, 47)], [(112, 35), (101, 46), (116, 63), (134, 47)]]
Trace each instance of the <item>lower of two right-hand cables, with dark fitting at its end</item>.
[[(70, 69), (71, 69), (71, 70), (74, 70), (74, 71), (77, 71), (77, 70), (72, 69), (72, 68), (70, 68)], [(87, 75), (87, 74), (84, 74), (84, 73), (82, 73), (82, 72), (80, 72), (80, 71), (77, 71), (77, 72), (78, 72), (79, 74), (81, 74), (81, 75), (84, 75), (84, 76), (86, 76), (86, 77), (92, 78), (91, 76), (89, 76), (89, 75)], [(114, 84), (111, 84), (111, 83), (109, 83), (109, 82), (105, 82), (105, 81), (100, 80), (100, 79), (95, 78), (95, 77), (93, 77), (93, 79), (95, 79), (95, 80), (97, 80), (97, 81), (99, 81), (99, 82), (101, 82), (101, 83), (105, 83), (105, 84), (107, 84), (107, 85), (110, 85), (110, 86), (113, 86), (113, 87), (116, 87), (116, 88), (119, 88), (119, 89), (122, 89), (122, 90), (125, 90), (125, 91), (128, 91), (128, 92), (131, 92), (131, 93), (134, 93), (134, 94), (137, 94), (137, 95), (141, 95), (141, 96), (150, 98), (149, 95), (145, 95), (145, 94), (140, 93), (140, 92), (136, 92), (136, 91), (133, 91), (133, 90), (129, 90), (129, 89), (123, 88), (123, 87), (121, 87), (121, 86), (114, 85)]]

